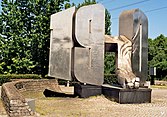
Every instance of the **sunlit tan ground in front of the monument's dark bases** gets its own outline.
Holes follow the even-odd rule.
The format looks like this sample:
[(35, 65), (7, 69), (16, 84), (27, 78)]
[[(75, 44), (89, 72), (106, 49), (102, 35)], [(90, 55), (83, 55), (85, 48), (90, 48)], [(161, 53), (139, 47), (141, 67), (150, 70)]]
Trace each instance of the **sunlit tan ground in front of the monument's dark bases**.
[[(0, 103), (1, 105), (1, 103)], [(80, 98), (36, 98), (40, 117), (167, 117), (167, 89), (152, 91), (152, 103), (118, 104), (104, 96)], [(5, 117), (0, 106), (0, 117)]]

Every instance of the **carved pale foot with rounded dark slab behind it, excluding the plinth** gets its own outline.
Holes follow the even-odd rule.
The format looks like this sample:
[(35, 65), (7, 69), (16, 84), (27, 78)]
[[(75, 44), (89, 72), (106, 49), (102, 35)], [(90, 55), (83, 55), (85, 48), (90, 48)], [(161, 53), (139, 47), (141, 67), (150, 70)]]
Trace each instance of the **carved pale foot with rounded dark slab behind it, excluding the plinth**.
[(139, 9), (122, 12), (119, 36), (105, 36), (106, 43), (117, 44), (116, 75), (124, 88), (143, 87), (147, 79), (148, 21)]

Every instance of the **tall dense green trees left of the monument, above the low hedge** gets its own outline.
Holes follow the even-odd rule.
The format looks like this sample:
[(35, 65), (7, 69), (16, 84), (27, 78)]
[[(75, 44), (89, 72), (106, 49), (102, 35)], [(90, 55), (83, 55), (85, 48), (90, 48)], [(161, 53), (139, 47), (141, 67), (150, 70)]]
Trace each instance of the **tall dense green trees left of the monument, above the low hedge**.
[(0, 73), (48, 72), (50, 15), (68, 0), (2, 0)]

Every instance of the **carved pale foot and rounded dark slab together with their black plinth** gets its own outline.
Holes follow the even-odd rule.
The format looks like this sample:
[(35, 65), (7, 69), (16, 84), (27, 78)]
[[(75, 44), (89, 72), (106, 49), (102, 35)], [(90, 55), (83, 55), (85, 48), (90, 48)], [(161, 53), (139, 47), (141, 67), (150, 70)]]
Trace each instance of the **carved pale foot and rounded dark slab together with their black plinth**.
[[(123, 11), (119, 17), (119, 36), (105, 35), (106, 50), (116, 44), (116, 75), (123, 88), (104, 86), (103, 94), (119, 103), (151, 102), (146, 87), (148, 58), (148, 20), (139, 9)], [(110, 44), (110, 46), (109, 46)]]

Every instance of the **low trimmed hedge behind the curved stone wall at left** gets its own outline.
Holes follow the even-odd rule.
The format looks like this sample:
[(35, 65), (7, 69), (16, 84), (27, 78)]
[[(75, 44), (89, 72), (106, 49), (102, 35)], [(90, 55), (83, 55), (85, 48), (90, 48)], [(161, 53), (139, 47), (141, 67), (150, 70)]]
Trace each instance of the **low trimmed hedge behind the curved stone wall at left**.
[(42, 77), (37, 74), (1, 74), (0, 85), (6, 82), (10, 82), (11, 79), (41, 79)]

